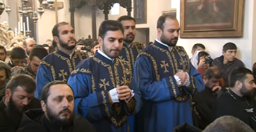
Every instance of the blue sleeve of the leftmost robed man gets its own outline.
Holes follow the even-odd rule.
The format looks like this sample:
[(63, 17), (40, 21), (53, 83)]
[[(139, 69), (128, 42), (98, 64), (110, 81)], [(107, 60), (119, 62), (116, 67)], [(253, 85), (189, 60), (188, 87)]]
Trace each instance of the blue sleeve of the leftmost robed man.
[(41, 65), (38, 67), (38, 71), (36, 74), (36, 91), (34, 96), (37, 99), (41, 99), (41, 92), (43, 87), (53, 81), (52, 79), (52, 69), (53, 67), (47, 63), (45, 60), (41, 62)]

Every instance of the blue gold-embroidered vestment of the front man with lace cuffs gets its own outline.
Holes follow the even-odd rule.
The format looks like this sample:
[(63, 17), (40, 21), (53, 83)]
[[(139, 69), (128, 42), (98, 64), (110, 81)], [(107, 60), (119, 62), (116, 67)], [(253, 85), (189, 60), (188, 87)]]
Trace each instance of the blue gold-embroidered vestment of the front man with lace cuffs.
[[(74, 92), (76, 114), (86, 117), (98, 132), (129, 132), (127, 116), (141, 108), (141, 93), (134, 83), (129, 63), (120, 58), (109, 60), (98, 51), (79, 63), (68, 81)], [(108, 91), (116, 85), (130, 85), (134, 90), (134, 97), (127, 103), (131, 106), (125, 101), (111, 104)]]

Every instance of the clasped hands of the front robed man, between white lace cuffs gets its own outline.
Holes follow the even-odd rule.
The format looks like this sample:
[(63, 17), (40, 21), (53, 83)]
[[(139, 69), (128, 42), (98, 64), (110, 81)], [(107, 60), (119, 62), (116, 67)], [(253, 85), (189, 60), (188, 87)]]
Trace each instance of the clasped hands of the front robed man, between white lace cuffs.
[(131, 90), (128, 88), (127, 85), (116, 86), (116, 90), (118, 92), (118, 98), (119, 100), (126, 100), (130, 99), (131, 97)]

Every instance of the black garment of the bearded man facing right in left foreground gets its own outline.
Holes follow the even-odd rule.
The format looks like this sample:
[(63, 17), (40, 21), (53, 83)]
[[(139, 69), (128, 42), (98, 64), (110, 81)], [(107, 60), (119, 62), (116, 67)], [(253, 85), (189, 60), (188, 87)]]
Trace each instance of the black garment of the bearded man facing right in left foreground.
[(17, 132), (95, 132), (92, 124), (80, 115), (74, 115), (69, 126), (53, 124), (42, 109), (28, 110), (24, 113)]

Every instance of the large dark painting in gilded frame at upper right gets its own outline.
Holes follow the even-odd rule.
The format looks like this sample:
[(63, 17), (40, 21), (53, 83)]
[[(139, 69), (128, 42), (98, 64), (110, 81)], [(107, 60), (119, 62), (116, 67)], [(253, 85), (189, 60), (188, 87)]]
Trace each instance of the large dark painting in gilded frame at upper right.
[(180, 0), (180, 38), (243, 37), (244, 0)]

